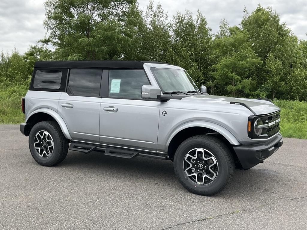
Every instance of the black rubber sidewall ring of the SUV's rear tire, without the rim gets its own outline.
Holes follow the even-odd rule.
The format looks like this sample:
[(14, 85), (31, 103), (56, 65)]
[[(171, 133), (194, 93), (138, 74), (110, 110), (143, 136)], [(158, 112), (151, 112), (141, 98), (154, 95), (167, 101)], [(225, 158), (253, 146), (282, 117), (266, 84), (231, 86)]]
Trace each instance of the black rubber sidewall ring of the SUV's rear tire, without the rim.
[[(34, 148), (34, 138), (37, 132), (39, 131), (47, 131), (53, 140), (53, 151), (52, 154), (49, 157), (42, 158), (40, 155), (38, 155), (37, 151)], [(39, 122), (36, 125), (33, 126), (33, 128), (30, 131), (29, 135), (29, 148), (30, 152), (35, 159), (35, 161), (41, 165), (50, 165), (53, 162), (55, 162), (59, 158), (59, 146), (60, 141), (57, 133), (54, 131), (54, 129), (47, 123), (47, 122)]]

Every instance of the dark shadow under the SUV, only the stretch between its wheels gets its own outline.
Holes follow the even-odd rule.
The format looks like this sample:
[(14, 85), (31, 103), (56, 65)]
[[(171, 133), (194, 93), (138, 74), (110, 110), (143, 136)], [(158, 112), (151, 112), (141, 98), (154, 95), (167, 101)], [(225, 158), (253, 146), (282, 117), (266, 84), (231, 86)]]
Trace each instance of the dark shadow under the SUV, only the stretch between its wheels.
[(106, 156), (96, 151), (89, 154), (68, 151), (66, 159), (57, 167), (92, 169), (93, 175), (107, 174), (110, 177), (121, 177), (128, 182), (133, 177), (151, 178), (154, 181), (160, 181), (160, 178), (169, 182), (176, 180), (173, 162), (170, 160), (139, 156), (125, 159)]

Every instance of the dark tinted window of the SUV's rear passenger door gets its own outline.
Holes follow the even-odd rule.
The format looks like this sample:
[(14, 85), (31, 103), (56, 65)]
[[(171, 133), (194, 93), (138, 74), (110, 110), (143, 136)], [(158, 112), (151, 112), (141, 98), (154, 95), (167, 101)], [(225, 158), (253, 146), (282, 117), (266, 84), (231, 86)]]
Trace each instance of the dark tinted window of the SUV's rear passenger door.
[(70, 70), (68, 86), (77, 96), (96, 97), (100, 93), (102, 70)]

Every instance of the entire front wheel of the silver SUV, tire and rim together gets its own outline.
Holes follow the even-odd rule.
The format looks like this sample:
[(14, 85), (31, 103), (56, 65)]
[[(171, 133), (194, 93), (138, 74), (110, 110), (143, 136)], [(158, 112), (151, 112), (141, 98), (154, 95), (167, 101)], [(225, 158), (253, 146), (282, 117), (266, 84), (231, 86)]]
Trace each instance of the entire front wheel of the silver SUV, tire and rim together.
[(208, 196), (219, 193), (229, 184), (234, 160), (222, 141), (213, 136), (198, 135), (179, 145), (174, 170), (186, 189)]

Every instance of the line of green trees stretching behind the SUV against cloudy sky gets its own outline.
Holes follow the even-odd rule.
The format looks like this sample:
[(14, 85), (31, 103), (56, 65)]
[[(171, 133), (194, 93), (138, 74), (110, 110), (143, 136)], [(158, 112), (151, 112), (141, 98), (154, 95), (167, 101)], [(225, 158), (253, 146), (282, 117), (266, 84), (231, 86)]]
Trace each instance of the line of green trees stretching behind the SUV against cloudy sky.
[(238, 26), (223, 19), (214, 34), (200, 11), (169, 19), (152, 0), (144, 11), (137, 0), (44, 4), (49, 36), (24, 54), (1, 53), (3, 89), (29, 84), (37, 60), (149, 60), (183, 67), (210, 94), (307, 100), (307, 41), (270, 7), (244, 9)]

